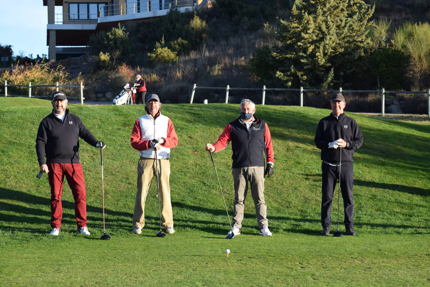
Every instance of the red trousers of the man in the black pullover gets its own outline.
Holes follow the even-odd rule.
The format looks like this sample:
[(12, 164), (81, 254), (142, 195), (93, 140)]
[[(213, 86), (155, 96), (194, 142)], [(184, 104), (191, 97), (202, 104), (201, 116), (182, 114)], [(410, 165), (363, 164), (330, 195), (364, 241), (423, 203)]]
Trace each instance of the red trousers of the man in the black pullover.
[(48, 179), (51, 186), (51, 228), (61, 228), (63, 207), (63, 180), (66, 176), (75, 201), (75, 216), (78, 227), (86, 226), (86, 190), (81, 164), (52, 164), (48, 165)]

